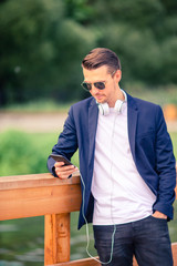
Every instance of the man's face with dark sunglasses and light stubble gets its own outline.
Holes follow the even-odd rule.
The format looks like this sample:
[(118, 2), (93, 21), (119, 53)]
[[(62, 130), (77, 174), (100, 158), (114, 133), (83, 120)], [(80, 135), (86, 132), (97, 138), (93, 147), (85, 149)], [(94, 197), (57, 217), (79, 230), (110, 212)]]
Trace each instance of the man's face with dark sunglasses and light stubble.
[[(119, 94), (118, 82), (121, 80), (121, 70), (117, 70), (114, 75), (108, 73), (107, 66), (103, 65), (95, 70), (86, 70), (83, 68), (84, 82), (92, 83), (90, 93), (98, 103), (107, 102), (111, 108), (114, 108)], [(105, 82), (105, 89), (100, 90), (94, 86), (94, 82)]]

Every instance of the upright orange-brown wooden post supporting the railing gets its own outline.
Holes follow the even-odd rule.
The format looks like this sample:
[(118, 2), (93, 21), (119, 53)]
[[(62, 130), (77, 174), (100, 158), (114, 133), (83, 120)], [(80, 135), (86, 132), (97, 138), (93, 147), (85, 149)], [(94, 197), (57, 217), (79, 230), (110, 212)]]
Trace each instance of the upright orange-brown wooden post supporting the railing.
[(45, 215), (44, 265), (70, 262), (70, 213)]

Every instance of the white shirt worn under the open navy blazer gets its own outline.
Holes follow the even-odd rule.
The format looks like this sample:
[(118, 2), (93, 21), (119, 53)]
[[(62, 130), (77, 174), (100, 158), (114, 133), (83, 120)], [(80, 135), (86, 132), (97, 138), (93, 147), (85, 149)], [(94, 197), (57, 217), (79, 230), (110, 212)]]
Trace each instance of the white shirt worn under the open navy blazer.
[(94, 225), (135, 222), (153, 213), (156, 196), (137, 172), (127, 132), (127, 102), (122, 113), (98, 114), (95, 139)]

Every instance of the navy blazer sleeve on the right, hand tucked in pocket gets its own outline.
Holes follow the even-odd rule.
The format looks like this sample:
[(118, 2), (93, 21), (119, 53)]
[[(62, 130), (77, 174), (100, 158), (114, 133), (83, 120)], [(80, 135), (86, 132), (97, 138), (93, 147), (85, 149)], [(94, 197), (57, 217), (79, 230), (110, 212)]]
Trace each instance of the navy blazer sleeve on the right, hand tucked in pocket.
[(176, 186), (176, 162), (173, 152), (173, 144), (167, 132), (162, 109), (158, 106), (156, 115), (156, 172), (159, 176), (157, 200), (154, 204), (154, 212), (159, 211), (173, 218), (173, 203), (175, 201)]

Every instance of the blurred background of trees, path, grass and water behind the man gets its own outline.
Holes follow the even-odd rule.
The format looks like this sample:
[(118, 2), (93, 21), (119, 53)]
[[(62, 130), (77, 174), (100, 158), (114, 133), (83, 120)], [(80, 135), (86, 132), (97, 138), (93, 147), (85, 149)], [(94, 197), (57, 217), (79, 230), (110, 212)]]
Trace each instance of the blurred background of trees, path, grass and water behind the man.
[[(176, 0), (0, 0), (0, 176), (48, 172), (96, 47), (119, 57), (125, 91), (162, 105), (177, 156)], [(72, 259), (87, 256), (76, 223)], [(177, 242), (176, 212), (169, 226)], [(31, 264), (43, 265), (43, 217), (0, 222), (0, 266)]]

